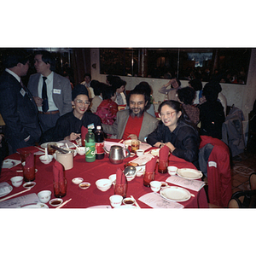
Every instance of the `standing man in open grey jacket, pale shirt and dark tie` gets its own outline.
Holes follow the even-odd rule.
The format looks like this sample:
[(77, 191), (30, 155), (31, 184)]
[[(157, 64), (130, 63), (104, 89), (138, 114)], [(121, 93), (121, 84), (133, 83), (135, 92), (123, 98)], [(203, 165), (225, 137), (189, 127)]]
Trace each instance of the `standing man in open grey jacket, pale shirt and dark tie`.
[[(54, 127), (61, 115), (72, 111), (72, 90), (68, 79), (53, 72), (55, 62), (48, 51), (35, 53), (34, 66), (38, 73), (31, 75), (27, 87), (37, 103), (38, 117), (44, 132)], [(43, 101), (44, 79), (47, 97)], [(44, 104), (47, 107), (44, 108)]]

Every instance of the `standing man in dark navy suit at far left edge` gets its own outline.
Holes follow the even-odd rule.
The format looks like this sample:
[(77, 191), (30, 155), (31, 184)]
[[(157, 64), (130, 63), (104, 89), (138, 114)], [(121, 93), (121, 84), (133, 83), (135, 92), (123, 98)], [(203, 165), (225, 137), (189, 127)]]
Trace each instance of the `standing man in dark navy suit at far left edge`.
[(0, 77), (0, 113), (6, 125), (9, 154), (14, 154), (17, 148), (39, 142), (41, 129), (37, 105), (20, 79), (29, 68), (28, 57), (22, 51), (13, 50), (3, 65), (6, 68)]

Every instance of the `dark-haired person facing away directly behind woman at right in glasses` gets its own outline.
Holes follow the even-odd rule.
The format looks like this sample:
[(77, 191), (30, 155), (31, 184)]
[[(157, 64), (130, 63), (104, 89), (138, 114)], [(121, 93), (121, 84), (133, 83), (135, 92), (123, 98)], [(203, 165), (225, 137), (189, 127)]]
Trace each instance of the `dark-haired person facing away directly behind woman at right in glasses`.
[(195, 90), (192, 87), (184, 87), (177, 90), (177, 96), (180, 102), (183, 104), (183, 109), (189, 116), (189, 119), (197, 125), (199, 123), (200, 111), (198, 108), (193, 106), (195, 99)]

